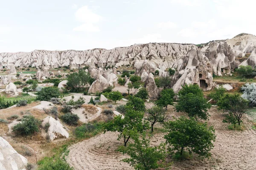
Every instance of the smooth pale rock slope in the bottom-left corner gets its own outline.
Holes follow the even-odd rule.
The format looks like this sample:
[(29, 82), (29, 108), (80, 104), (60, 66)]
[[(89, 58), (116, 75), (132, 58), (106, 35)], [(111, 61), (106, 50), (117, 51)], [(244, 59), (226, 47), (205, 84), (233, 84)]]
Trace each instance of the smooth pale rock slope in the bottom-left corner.
[(0, 136), (0, 170), (26, 170), (27, 159)]

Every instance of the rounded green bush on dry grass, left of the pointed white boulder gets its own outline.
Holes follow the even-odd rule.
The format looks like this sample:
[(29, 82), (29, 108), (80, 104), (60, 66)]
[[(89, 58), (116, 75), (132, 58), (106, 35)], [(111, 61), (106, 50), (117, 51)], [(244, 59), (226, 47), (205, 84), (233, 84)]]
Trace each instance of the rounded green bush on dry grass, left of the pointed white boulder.
[(34, 116), (23, 116), (20, 123), (13, 127), (13, 132), (19, 135), (32, 135), (39, 131), (41, 121)]

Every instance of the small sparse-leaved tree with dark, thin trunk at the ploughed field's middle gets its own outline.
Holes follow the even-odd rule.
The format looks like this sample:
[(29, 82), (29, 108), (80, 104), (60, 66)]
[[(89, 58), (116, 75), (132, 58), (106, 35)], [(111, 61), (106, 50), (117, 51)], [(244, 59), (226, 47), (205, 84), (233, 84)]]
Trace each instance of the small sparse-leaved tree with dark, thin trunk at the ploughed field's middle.
[(165, 110), (159, 106), (153, 106), (147, 110), (147, 113), (148, 115), (145, 119), (151, 122), (151, 132), (153, 132), (153, 126), (155, 123), (163, 123), (169, 118), (169, 115), (166, 114)]

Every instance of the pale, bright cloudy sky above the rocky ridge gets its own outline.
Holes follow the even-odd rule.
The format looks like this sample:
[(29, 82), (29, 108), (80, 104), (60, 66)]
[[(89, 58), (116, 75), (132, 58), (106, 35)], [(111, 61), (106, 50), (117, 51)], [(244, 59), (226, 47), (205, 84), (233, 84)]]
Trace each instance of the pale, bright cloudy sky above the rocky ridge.
[(0, 52), (205, 43), (256, 34), (253, 0), (0, 0)]

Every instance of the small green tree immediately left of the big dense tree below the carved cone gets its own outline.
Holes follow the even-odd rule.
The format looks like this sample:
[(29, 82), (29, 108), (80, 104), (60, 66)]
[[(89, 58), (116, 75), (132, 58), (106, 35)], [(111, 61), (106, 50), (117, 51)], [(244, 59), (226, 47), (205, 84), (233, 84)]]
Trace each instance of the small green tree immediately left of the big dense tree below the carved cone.
[(173, 105), (174, 96), (175, 93), (172, 88), (163, 89), (160, 93), (158, 100), (156, 101), (156, 105), (165, 107), (167, 110), (168, 105)]

